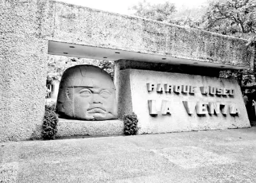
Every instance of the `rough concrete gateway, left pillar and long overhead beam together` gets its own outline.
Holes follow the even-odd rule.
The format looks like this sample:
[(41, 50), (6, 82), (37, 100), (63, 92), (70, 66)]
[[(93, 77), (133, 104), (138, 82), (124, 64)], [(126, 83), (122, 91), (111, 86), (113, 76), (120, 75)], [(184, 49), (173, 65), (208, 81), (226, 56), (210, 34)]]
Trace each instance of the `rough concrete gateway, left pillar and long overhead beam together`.
[(40, 137), (48, 40), (252, 66), (243, 39), (55, 1), (0, 6), (0, 141)]

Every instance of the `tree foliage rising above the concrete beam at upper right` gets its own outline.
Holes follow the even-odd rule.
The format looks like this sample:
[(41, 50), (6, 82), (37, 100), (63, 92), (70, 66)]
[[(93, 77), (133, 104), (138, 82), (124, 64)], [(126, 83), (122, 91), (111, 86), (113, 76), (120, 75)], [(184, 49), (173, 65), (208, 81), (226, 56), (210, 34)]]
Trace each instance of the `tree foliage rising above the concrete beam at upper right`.
[(132, 10), (139, 17), (241, 37), (248, 44), (256, 41), (256, 0), (216, 0), (181, 10), (169, 2), (152, 5), (144, 0)]

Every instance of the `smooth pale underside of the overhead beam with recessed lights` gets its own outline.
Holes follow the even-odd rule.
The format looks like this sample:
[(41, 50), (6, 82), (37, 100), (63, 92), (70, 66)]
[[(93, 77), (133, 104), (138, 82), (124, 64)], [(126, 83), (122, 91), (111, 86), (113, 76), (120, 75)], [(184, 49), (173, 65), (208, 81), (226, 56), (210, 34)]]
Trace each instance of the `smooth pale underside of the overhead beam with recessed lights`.
[(57, 41), (49, 41), (48, 53), (50, 55), (93, 58), (99, 60), (136, 60), (142, 62), (156, 62), (173, 65), (186, 64), (202, 67), (215, 67), (220, 69), (246, 69), (246, 67), (239, 67), (236, 65), (201, 62), (184, 58), (175, 58), (163, 55), (151, 55), (146, 53), (136, 53), (133, 51), (116, 50), (110, 48), (98, 48), (93, 46), (63, 43)]

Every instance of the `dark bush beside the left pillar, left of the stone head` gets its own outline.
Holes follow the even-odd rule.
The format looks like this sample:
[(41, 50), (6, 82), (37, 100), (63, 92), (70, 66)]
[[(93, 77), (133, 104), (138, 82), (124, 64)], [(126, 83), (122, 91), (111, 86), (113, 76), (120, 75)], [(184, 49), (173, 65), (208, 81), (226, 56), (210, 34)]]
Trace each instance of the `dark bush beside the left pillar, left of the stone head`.
[(42, 136), (43, 140), (55, 139), (57, 133), (58, 115), (55, 112), (55, 104), (45, 105), (45, 117), (43, 119)]

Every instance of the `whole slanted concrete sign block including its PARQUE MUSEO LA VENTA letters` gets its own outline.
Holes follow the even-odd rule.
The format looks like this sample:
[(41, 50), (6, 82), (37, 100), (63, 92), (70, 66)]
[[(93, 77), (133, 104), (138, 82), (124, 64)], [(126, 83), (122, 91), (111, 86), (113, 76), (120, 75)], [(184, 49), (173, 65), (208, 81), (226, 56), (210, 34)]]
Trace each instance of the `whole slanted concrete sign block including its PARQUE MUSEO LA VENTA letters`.
[(139, 133), (250, 127), (234, 79), (138, 69), (119, 79), (119, 116), (135, 112)]

